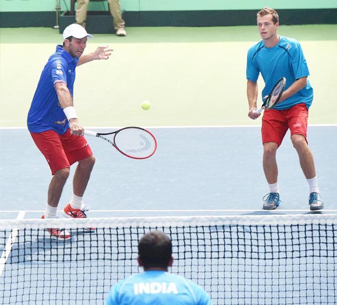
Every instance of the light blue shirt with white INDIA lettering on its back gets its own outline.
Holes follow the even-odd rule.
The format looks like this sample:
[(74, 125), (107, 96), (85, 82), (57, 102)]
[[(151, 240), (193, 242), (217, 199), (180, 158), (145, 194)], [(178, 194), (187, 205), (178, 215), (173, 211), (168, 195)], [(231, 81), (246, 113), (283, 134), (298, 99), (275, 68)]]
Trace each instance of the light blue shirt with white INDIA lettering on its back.
[(212, 305), (204, 289), (182, 276), (149, 270), (115, 284), (106, 305)]

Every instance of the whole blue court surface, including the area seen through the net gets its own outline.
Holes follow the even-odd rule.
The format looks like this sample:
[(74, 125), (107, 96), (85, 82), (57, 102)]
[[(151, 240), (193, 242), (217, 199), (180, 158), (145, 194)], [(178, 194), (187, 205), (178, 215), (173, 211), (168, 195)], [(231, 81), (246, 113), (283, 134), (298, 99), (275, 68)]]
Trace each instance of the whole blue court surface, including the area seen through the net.
[[(56, 304), (67, 299), (69, 304), (102, 304), (107, 287), (140, 271), (137, 240), (153, 228), (163, 229), (173, 240), (176, 264), (172, 272), (205, 287), (214, 304), (243, 300), (246, 304), (334, 303), (336, 126), (311, 126), (308, 132), (324, 199), (325, 208), (319, 212), (309, 211), (306, 181), (299, 166), (294, 167), (297, 155), (287, 136), (278, 154), (282, 203), (277, 210), (264, 211), (262, 196), (268, 190), (260, 165), (259, 128), (150, 130), (158, 149), (145, 160), (127, 158), (99, 139), (88, 139), (97, 161), (85, 203), (89, 217), (95, 217), (95, 234), (77, 228), (71, 243), (64, 243), (34, 226), (2, 232), (7, 242), (0, 264), (4, 303), (33, 299), (36, 304), (46, 300)], [(1, 217), (40, 218), (49, 168), (26, 129), (0, 133)], [(332, 139), (324, 147), (322, 134)], [(13, 148), (14, 143), (20, 147)], [(71, 192), (69, 177), (60, 206), (68, 202)], [(279, 216), (283, 218), (275, 218)], [(307, 223), (308, 216), (316, 217), (318, 223), (312, 224), (312, 219)], [(106, 222), (106, 217), (123, 221), (112, 229), (114, 218)], [(134, 217), (145, 217), (147, 224), (144, 218)], [(324, 217), (328, 217), (326, 223)], [(288, 223), (289, 218), (293, 222)], [(16, 280), (9, 282), (10, 277)], [(9, 286), (13, 292), (7, 291)], [(17, 296), (9, 294), (17, 291)]]

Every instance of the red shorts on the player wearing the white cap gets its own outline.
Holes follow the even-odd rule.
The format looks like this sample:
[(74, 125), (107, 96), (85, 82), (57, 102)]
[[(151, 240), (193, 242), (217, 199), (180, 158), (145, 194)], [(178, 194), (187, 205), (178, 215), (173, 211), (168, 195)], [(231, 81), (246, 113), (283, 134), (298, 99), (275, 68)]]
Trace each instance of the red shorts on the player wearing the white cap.
[(90, 157), (93, 152), (85, 137), (74, 136), (68, 129), (63, 135), (53, 130), (30, 133), (36, 146), (46, 158), (52, 175), (57, 170)]

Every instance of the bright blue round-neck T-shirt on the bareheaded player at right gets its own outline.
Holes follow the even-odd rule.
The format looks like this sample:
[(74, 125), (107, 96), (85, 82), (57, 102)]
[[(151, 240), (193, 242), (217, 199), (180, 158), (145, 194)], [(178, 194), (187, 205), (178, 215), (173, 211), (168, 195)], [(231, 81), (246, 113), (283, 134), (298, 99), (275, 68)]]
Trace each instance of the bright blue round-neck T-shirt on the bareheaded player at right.
[[(282, 77), (287, 79), (285, 87), (287, 89), (297, 79), (309, 76), (309, 69), (300, 43), (292, 38), (279, 37), (280, 41), (272, 48), (267, 48), (262, 40), (248, 50), (246, 77), (247, 80), (256, 82), (261, 73), (265, 81), (262, 97), (269, 95)], [(305, 103), (309, 108), (312, 99), (313, 90), (307, 80), (306, 87), (277, 104), (274, 109), (287, 109), (299, 103)]]

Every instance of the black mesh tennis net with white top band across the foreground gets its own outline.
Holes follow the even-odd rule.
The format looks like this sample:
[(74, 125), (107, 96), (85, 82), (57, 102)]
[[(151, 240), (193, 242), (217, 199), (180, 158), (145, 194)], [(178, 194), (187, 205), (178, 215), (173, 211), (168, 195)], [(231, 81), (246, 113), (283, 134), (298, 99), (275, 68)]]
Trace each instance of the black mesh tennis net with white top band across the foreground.
[[(142, 272), (138, 240), (160, 229), (173, 241), (170, 272), (201, 285), (215, 305), (331, 305), (336, 216), (2, 220), (0, 303), (103, 304), (111, 285)], [(69, 228), (71, 240), (51, 239), (48, 227)]]

